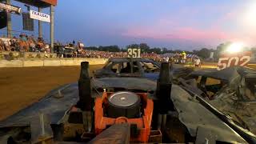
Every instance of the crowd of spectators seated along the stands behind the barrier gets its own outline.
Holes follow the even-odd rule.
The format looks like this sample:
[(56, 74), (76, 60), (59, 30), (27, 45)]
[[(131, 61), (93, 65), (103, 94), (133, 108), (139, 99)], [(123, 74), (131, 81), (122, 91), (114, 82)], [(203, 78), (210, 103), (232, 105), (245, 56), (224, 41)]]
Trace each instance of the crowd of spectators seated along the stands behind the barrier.
[[(66, 45), (62, 45), (57, 42), (55, 45), (62, 46), (64, 49), (70, 47), (72, 57), (82, 57), (82, 58), (127, 58), (126, 52), (109, 52), (100, 50), (86, 50), (82, 42), (70, 42)], [(45, 52), (50, 53), (50, 46), (46, 44), (43, 38), (34, 38), (33, 35), (27, 36), (26, 34), (20, 34), (19, 38), (0, 38), (0, 51), (20, 51), (20, 52)], [(184, 53), (184, 51), (183, 51)], [(182, 54), (178, 54), (182, 55)], [(184, 54), (183, 54), (184, 55)], [(186, 55), (186, 54), (185, 54)], [(191, 57), (185, 56), (187, 61), (194, 61), (194, 54), (190, 54)], [(187, 55), (189, 56), (189, 54)], [(166, 54), (155, 54), (152, 53), (142, 53), (142, 58), (153, 59), (154, 61), (165, 61), (165, 58), (170, 58), (170, 60), (178, 60), (177, 54), (166, 53)], [(196, 56), (197, 57), (197, 56)], [(183, 57), (182, 57), (183, 59)]]

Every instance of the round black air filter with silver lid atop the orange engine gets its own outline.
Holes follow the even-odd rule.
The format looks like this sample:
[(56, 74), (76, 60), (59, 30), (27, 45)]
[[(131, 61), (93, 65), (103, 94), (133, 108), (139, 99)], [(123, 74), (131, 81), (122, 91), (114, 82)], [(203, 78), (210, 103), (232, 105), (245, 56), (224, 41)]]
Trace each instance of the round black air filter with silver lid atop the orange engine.
[(110, 95), (107, 115), (110, 118), (138, 118), (141, 99), (137, 94), (121, 91)]

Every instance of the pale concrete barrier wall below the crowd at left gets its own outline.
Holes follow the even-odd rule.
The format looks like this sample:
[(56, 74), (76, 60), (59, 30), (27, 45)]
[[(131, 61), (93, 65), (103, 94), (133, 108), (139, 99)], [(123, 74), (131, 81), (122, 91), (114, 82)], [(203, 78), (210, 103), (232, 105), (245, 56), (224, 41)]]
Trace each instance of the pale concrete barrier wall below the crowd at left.
[(32, 67), (32, 66), (80, 66), (81, 62), (89, 62), (90, 65), (105, 64), (107, 58), (53, 58), (53, 59), (22, 59), (0, 60), (0, 67)]

